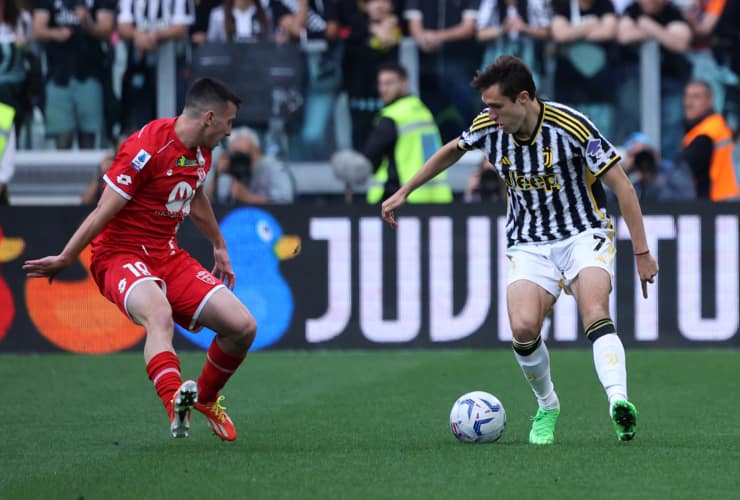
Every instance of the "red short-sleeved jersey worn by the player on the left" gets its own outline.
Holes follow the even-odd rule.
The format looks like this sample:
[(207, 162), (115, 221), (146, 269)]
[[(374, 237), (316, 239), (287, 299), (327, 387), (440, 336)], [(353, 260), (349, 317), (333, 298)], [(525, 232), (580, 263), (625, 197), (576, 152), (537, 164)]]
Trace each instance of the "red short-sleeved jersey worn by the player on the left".
[(175, 134), (176, 119), (149, 122), (121, 145), (103, 180), (129, 201), (93, 240), (93, 252), (178, 248), (177, 228), (205, 182), (211, 151), (186, 147)]

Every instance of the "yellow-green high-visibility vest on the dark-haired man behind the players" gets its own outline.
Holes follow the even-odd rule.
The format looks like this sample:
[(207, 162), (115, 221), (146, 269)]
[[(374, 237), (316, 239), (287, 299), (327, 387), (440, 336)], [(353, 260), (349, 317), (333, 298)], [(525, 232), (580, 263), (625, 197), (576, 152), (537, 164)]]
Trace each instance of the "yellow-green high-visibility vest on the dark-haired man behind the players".
[[(396, 144), (393, 158), (401, 185), (407, 183), (424, 162), (441, 146), (439, 129), (432, 112), (416, 96), (405, 96), (384, 107), (379, 116), (390, 118), (396, 124)], [(370, 181), (368, 203), (378, 203), (383, 198), (388, 180), (388, 158), (385, 158)], [(447, 183), (447, 173), (442, 172), (412, 192), (409, 203), (450, 203), (452, 189)]]

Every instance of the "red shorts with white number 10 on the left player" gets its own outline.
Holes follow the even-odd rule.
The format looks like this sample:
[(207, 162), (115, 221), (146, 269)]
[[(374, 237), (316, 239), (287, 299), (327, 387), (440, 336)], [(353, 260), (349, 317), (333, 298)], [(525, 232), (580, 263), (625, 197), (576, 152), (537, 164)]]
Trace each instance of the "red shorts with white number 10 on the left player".
[(172, 307), (175, 323), (191, 331), (200, 329), (198, 316), (203, 307), (224, 286), (182, 249), (173, 255), (105, 250), (93, 255), (90, 271), (100, 292), (129, 318), (126, 301), (131, 290), (144, 281), (156, 281)]

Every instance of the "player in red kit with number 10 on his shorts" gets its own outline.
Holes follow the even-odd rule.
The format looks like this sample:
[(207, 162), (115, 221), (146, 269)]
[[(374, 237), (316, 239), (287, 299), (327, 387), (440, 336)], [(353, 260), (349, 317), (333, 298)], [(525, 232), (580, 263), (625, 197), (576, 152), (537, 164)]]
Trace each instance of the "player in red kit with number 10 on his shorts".
[[(195, 408), (214, 434), (236, 439), (219, 391), (244, 360), (257, 325), (231, 292), (234, 272), (203, 182), (211, 150), (231, 133), (240, 102), (217, 80), (194, 82), (182, 114), (148, 123), (121, 146), (97, 207), (62, 252), (23, 265), (28, 277), (51, 282), (92, 242), (90, 270), (100, 291), (146, 329), (146, 370), (173, 437), (188, 436)], [(188, 215), (213, 244), (212, 272), (177, 244), (177, 228)], [(173, 320), (216, 332), (197, 382), (181, 379)]]

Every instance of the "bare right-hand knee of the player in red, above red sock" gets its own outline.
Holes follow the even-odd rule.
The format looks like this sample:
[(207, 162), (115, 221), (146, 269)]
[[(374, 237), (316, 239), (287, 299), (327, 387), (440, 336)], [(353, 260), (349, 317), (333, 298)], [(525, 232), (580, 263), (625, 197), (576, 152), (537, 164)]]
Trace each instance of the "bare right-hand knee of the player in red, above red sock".
[(247, 306), (226, 287), (208, 298), (198, 322), (219, 335), (254, 335), (257, 324)]

